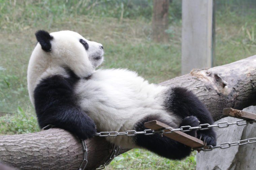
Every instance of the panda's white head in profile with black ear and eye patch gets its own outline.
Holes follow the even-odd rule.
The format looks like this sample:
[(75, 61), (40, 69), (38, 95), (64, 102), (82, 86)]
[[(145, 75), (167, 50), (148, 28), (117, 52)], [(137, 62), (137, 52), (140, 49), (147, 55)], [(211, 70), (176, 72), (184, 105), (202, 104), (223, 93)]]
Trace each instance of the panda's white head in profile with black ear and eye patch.
[[(68, 67), (78, 77), (90, 76), (103, 61), (103, 46), (73, 31), (36, 32), (39, 42), (32, 56), (43, 59), (49, 67)], [(31, 57), (32, 57), (31, 56)]]

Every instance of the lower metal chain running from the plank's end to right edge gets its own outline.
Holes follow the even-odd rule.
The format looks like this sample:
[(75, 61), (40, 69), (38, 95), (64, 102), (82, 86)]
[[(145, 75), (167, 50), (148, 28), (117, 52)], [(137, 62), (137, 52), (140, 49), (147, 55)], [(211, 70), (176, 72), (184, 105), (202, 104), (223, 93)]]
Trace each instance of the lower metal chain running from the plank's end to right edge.
[(244, 144), (249, 144), (249, 143), (256, 143), (256, 137), (240, 140), (238, 142), (225, 142), (225, 143), (221, 143), (218, 146), (208, 145), (208, 146), (206, 146), (208, 148), (197, 147), (197, 148), (193, 148), (193, 151), (212, 151), (213, 149), (216, 149), (216, 148), (226, 149), (231, 146), (244, 145)]

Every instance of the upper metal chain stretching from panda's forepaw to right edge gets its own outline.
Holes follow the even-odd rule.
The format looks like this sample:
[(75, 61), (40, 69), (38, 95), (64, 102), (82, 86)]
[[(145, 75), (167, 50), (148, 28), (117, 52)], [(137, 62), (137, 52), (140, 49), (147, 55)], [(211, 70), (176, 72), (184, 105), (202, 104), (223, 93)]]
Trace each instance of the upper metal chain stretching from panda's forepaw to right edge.
[[(255, 120), (238, 120), (236, 122), (233, 123), (228, 123), (228, 122), (219, 122), (217, 125), (210, 125), (208, 123), (206, 124), (200, 124), (199, 126), (195, 126), (195, 127), (191, 127), (191, 126), (181, 126), (180, 128), (177, 129), (173, 129), (173, 128), (163, 128), (161, 130), (152, 130), (152, 129), (145, 129), (143, 131), (139, 131), (137, 132), (136, 130), (128, 130), (125, 132), (99, 132), (99, 133), (95, 133), (94, 136), (100, 136), (100, 137), (106, 137), (106, 136), (120, 136), (120, 135), (127, 135), (127, 136), (135, 136), (137, 134), (144, 134), (144, 135), (153, 135), (155, 133), (160, 133), (160, 134), (164, 134), (164, 133), (171, 133), (174, 131), (181, 131), (181, 132), (189, 132), (191, 130), (197, 129), (197, 130), (207, 130), (210, 129), (212, 127), (218, 127), (218, 128), (226, 128), (229, 125), (237, 125), (237, 126), (244, 126), (247, 125), (249, 123), (254, 123), (256, 122)], [(170, 131), (164, 131), (164, 130), (170, 130)]]

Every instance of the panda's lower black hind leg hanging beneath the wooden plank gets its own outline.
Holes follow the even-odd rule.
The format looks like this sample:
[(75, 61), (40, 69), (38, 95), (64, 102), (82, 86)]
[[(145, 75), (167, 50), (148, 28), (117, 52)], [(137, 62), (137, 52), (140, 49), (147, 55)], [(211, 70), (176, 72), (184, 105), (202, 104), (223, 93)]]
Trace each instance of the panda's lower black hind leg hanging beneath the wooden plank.
[[(143, 131), (145, 128), (144, 123), (152, 120), (158, 120), (167, 125), (171, 126), (170, 122), (166, 122), (161, 120), (161, 118), (157, 117), (147, 117), (135, 126), (136, 131)], [(190, 125), (190, 126), (198, 126), (199, 122), (195, 117), (189, 117), (183, 120), (182, 124)], [(186, 132), (189, 135), (195, 137), (196, 131)], [(166, 157), (169, 159), (181, 160), (191, 153), (191, 147), (186, 146), (180, 142), (172, 140), (166, 136), (161, 136), (160, 134), (154, 135), (136, 135), (134, 137), (134, 141), (138, 146), (146, 148), (162, 157)]]

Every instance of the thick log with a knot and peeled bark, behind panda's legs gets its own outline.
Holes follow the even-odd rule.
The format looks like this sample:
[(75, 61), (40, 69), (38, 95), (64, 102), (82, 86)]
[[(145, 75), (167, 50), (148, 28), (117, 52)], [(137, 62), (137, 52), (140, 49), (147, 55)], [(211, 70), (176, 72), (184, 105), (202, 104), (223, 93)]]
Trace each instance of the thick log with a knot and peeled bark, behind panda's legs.
[(256, 55), (211, 69), (194, 69), (160, 85), (193, 91), (217, 121), (224, 108), (242, 110), (256, 105)]

